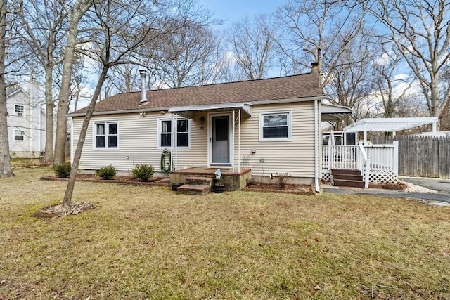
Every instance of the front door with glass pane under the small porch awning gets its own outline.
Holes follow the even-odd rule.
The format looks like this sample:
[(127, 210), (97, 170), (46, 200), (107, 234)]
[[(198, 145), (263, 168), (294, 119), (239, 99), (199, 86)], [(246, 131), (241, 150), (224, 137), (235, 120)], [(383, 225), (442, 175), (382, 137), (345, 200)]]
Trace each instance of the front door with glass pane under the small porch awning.
[(230, 117), (211, 117), (212, 164), (230, 164)]

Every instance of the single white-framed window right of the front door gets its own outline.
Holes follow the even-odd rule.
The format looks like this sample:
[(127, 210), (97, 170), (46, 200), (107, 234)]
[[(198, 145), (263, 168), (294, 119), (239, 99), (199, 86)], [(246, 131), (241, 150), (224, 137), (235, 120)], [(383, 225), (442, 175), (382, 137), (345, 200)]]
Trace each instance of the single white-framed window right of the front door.
[(290, 112), (259, 113), (259, 140), (290, 140)]

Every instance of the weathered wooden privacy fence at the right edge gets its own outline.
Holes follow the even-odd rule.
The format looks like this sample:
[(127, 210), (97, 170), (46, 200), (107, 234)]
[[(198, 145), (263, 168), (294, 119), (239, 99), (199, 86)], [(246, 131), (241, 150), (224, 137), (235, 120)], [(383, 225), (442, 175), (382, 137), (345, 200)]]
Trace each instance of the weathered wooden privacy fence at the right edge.
[(450, 136), (399, 136), (399, 174), (450, 178)]

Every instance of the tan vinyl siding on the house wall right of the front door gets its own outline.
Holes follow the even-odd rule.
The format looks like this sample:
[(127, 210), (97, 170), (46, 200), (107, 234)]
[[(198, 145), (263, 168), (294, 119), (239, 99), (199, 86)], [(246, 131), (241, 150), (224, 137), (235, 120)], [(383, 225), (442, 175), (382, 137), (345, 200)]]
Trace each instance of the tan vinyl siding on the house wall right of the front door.
[[(290, 141), (259, 141), (259, 112), (290, 111), (292, 138)], [(314, 178), (314, 102), (278, 105), (255, 105), (252, 117), (243, 116), (240, 129), (238, 157), (238, 128), (235, 129), (235, 165), (244, 155), (250, 158), (241, 167), (251, 168), (252, 174), (269, 176), (288, 173), (293, 177)], [(252, 148), (256, 153), (252, 154)], [(264, 159), (264, 163), (260, 162)]]

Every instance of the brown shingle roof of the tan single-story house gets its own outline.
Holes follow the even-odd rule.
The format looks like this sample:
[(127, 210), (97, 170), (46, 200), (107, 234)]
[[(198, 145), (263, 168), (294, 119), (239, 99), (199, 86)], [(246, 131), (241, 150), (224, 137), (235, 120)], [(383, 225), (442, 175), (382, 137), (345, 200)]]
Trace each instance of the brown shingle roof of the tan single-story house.
[[(316, 72), (236, 81), (205, 86), (188, 86), (177, 89), (147, 91), (146, 103), (140, 103), (141, 92), (119, 93), (96, 103), (96, 113), (127, 112), (127, 110), (157, 110), (191, 105), (220, 103), (257, 103), (262, 100), (282, 100), (323, 96)], [(85, 113), (86, 107), (72, 114)]]

